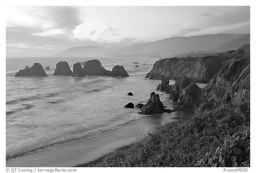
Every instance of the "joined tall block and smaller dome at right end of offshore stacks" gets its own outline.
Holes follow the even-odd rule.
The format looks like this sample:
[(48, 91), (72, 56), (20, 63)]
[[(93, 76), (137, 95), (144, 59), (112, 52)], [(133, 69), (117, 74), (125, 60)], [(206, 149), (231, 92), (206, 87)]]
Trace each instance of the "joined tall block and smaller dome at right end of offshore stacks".
[(89, 60), (84, 62), (84, 74), (96, 75), (96, 76), (112, 76), (112, 77), (128, 77), (127, 71), (121, 65), (116, 65), (112, 68), (112, 71), (106, 70), (102, 67), (99, 60)]

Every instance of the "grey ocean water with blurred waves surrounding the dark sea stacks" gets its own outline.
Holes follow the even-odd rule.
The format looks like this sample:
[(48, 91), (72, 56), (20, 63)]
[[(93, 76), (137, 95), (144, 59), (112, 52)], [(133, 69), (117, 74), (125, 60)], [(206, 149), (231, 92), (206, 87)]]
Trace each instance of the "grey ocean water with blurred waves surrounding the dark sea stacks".
[[(76, 62), (91, 59), (100, 60), (102, 66), (108, 70), (111, 70), (115, 65), (123, 65), (130, 76), (66, 77), (53, 75), (57, 62), (67, 61), (72, 70), (73, 64)], [(23, 159), (23, 165), (27, 163), (27, 166), (32, 166), (35, 159), (33, 157), (32, 161), (28, 159), (31, 154), (41, 152), (40, 155), (42, 155), (42, 153), (49, 151), (52, 153), (51, 150), (53, 149), (51, 147), (61, 146), (68, 142), (73, 142), (72, 145), (75, 146), (74, 141), (77, 143), (79, 140), (83, 140), (83, 142), (89, 142), (92, 146), (95, 146), (93, 140), (97, 145), (100, 145), (100, 140), (95, 138), (101, 138), (101, 144), (105, 144), (111, 136), (109, 131), (112, 132), (112, 135), (115, 135), (116, 140), (122, 137), (126, 139), (123, 142), (118, 142), (117, 145), (108, 147), (112, 150), (128, 145), (138, 135), (143, 135), (152, 128), (174, 121), (173, 118), (176, 116), (191, 114), (191, 111), (181, 109), (177, 112), (159, 115), (161, 117), (159, 119), (156, 118), (156, 115), (138, 114), (138, 108), (124, 108), (124, 105), (129, 102), (134, 105), (145, 104), (150, 97), (150, 93), (156, 92), (156, 86), (160, 81), (144, 78), (156, 61), (157, 59), (127, 57), (6, 58), (7, 165), (18, 166), (19, 164), (16, 164), (15, 160)], [(31, 67), (35, 62), (39, 62), (43, 67), (49, 66), (51, 68), (50, 71), (46, 71), (48, 77), (14, 77), (20, 69), (24, 69), (26, 65)], [(139, 64), (133, 64), (132, 62), (138, 62)], [(139, 67), (136, 68), (135, 65), (139, 65)], [(174, 84), (174, 82), (170, 81), (170, 84)], [(133, 96), (128, 96), (128, 92), (132, 92)], [(168, 100), (168, 94), (156, 93), (160, 94), (160, 100), (164, 105), (169, 109), (174, 108), (173, 103)], [(145, 119), (145, 117), (148, 118)], [(129, 124), (133, 122), (137, 122), (137, 125), (131, 129)], [(116, 134), (120, 135), (123, 132), (114, 133), (116, 129), (123, 132), (125, 129), (125, 131), (128, 131), (128, 135), (123, 134), (123, 136), (117, 137)], [(106, 131), (108, 131), (108, 135), (103, 135), (106, 134)], [(80, 150), (83, 147), (86, 150), (84, 145), (80, 145), (80, 147)], [(44, 148), (46, 149), (42, 151)], [(83, 157), (90, 158), (88, 161), (92, 161), (110, 151), (101, 150), (100, 153), (97, 153), (97, 150), (99, 148), (94, 148), (94, 153), (88, 154), (88, 156), (84, 153)], [(70, 159), (74, 160), (73, 158)], [(38, 162), (42, 165), (36, 166), (49, 166), (46, 164), (48, 162), (45, 162), (45, 164), (41, 161)], [(68, 166), (74, 166), (80, 164), (80, 162), (72, 162), (73, 165)], [(65, 164), (61, 166), (65, 166)]]

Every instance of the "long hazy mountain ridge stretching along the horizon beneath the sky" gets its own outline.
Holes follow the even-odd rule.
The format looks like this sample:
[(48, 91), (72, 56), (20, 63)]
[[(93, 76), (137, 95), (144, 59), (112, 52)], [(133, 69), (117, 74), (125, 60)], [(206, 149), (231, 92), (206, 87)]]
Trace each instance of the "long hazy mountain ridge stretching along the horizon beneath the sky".
[[(155, 42), (147, 42), (134, 44), (126, 47), (101, 47), (101, 46), (79, 46), (64, 50), (53, 56), (74, 56), (74, 57), (109, 57), (118, 55), (159, 55), (171, 56), (176, 54), (184, 54), (199, 51), (212, 51), (218, 49), (220, 45), (235, 45), (239, 40), (248, 40), (250, 35), (244, 34), (215, 34), (215, 35), (200, 35), (190, 37), (171, 37), (158, 40)], [(239, 45), (246, 44), (247, 41)], [(236, 48), (237, 49), (237, 48)], [(224, 50), (228, 50), (224, 48)]]

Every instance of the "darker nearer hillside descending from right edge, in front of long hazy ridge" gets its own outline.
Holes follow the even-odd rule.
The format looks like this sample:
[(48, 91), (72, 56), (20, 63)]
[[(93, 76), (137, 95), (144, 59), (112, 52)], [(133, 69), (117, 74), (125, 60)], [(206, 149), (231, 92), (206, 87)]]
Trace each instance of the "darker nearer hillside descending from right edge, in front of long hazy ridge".
[(214, 52), (224, 52), (227, 50), (237, 50), (241, 45), (244, 45), (244, 44), (250, 44), (250, 34), (243, 35), (239, 38), (236, 38), (227, 43), (224, 43), (223, 45), (218, 46), (213, 51)]

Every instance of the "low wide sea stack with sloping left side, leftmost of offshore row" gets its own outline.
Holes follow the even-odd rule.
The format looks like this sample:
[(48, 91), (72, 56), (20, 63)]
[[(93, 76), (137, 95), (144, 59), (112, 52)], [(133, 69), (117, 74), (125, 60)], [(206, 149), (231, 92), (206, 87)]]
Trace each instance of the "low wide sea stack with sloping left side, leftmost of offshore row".
[(44, 68), (41, 64), (39, 63), (34, 63), (34, 65), (32, 65), (31, 68), (25, 68), (23, 70), (20, 70), (18, 73), (15, 74), (15, 77), (22, 77), (22, 76), (40, 76), (40, 77), (44, 77), (44, 76), (48, 76), (45, 71)]

